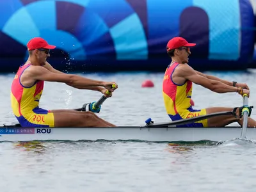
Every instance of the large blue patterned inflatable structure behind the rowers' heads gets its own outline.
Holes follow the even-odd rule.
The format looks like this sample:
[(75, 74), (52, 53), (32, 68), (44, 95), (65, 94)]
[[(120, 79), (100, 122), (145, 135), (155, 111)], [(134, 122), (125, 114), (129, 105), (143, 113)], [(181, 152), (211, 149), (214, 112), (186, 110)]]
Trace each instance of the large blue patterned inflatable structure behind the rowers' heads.
[(241, 70), (254, 51), (249, 0), (1, 0), (0, 65), (13, 72), (45, 38), (60, 70), (165, 70), (174, 36), (196, 43), (198, 70)]

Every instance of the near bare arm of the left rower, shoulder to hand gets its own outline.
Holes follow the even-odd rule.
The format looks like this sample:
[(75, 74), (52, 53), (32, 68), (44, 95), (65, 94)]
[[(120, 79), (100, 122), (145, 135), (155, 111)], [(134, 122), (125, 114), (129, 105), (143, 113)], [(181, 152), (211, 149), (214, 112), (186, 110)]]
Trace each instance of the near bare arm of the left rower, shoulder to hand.
[(28, 70), (28, 76), (33, 78), (35, 81), (55, 81), (67, 83), (74, 87), (83, 87), (84, 89), (87, 89), (90, 86), (104, 86), (110, 90), (111, 85), (115, 84), (114, 82), (97, 81), (74, 74), (54, 73), (41, 66), (31, 66)]

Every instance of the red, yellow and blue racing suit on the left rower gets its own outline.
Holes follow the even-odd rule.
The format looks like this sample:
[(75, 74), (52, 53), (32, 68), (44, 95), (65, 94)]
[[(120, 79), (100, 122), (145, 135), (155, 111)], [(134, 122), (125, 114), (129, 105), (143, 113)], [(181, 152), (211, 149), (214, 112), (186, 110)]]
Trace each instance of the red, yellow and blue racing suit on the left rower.
[(39, 108), (44, 90), (44, 81), (35, 81), (32, 86), (23, 86), (20, 77), (31, 64), (19, 67), (12, 83), (11, 104), (13, 114), (22, 127), (54, 127), (53, 113)]

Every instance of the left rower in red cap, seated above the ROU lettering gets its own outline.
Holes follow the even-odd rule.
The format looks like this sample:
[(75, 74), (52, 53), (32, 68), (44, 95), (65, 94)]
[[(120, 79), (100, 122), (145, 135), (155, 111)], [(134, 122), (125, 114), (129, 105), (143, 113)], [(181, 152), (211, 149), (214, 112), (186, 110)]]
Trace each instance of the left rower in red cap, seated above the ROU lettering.
[(44, 81), (55, 81), (77, 89), (98, 91), (106, 98), (111, 97), (118, 86), (115, 82), (97, 81), (56, 70), (47, 62), (50, 50), (56, 46), (49, 45), (43, 38), (32, 38), (27, 47), (29, 58), (19, 67), (11, 90), (13, 113), (22, 127), (115, 127), (92, 111), (49, 111), (39, 108)]

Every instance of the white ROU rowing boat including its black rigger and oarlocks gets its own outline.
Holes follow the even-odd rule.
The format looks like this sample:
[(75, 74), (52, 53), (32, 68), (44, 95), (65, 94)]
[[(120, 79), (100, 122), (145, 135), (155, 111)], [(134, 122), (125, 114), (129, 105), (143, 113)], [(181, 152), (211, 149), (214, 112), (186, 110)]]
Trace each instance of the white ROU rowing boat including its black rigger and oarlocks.
[[(245, 118), (250, 116), (252, 108), (248, 106), (248, 97), (244, 95), (243, 107), (239, 108), (245, 113)], [(84, 104), (83, 108), (75, 109), (77, 111), (93, 111), (99, 113), (101, 104), (106, 100), (102, 96), (98, 102)], [(247, 120), (244, 120), (243, 127), (177, 127), (177, 125), (189, 124), (212, 118), (220, 115), (236, 115), (236, 109), (233, 111), (224, 111), (211, 113), (208, 115), (195, 116), (176, 120), (164, 124), (154, 124), (151, 118), (146, 120), (145, 126), (120, 126), (120, 127), (58, 127), (58, 128), (31, 128), (20, 127), (16, 125), (4, 125), (0, 127), (0, 141), (227, 141), (234, 138), (248, 138), (256, 140), (256, 129), (247, 128)], [(240, 116), (241, 117), (241, 116)], [(243, 129), (242, 129), (243, 128)]]

